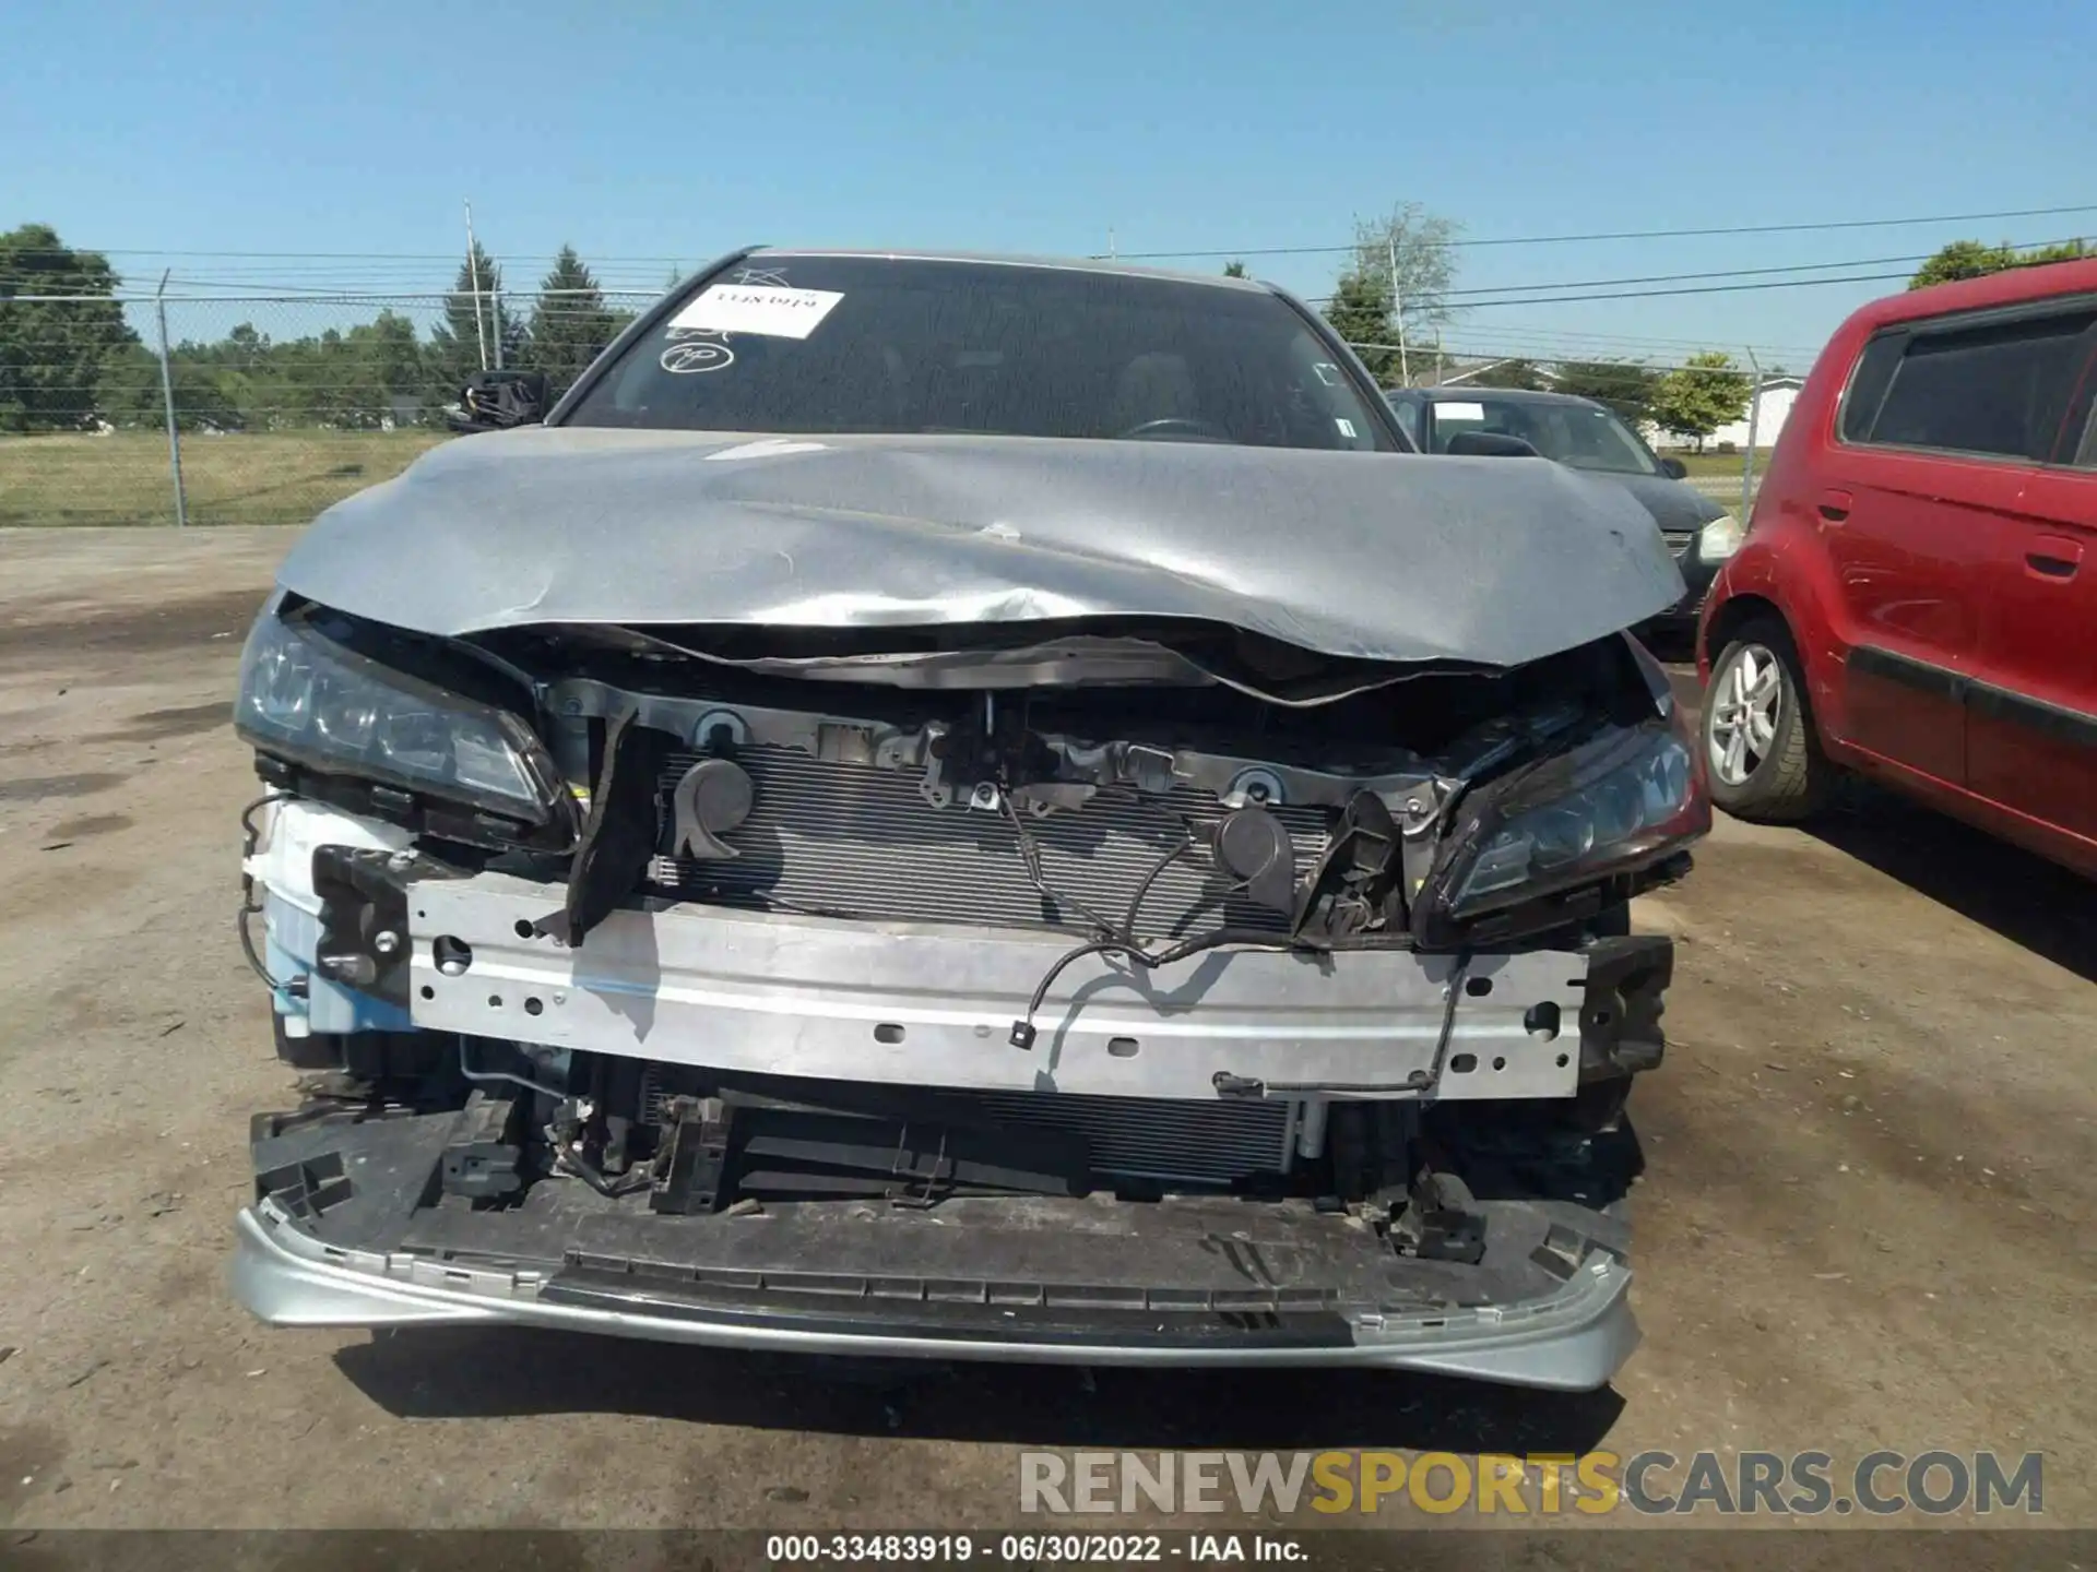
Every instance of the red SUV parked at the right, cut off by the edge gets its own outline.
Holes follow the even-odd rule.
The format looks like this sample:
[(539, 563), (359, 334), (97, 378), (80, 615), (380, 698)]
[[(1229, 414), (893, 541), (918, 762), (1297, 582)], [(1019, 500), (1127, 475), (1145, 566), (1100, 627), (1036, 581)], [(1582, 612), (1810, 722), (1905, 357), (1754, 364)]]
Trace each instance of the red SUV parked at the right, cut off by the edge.
[(1720, 807), (1854, 769), (2097, 878), (2097, 260), (1841, 325), (1696, 664)]

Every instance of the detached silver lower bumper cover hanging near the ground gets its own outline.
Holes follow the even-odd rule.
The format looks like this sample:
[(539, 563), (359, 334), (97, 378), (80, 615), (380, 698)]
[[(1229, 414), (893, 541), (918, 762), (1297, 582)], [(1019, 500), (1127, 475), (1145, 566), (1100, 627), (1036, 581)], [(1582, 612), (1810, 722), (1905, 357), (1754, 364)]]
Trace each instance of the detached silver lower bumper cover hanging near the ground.
[[(730, 1220), (713, 1224), (717, 1237), (738, 1222), (744, 1237), (770, 1222), (793, 1226)], [(887, 1270), (835, 1258), (820, 1272), (738, 1266), (751, 1251), (736, 1249), (736, 1239), (721, 1239), (713, 1264), (675, 1268), (587, 1247), (543, 1266), (472, 1262), (329, 1245), (264, 1199), (239, 1216), (233, 1291), (277, 1327), (476, 1323), (807, 1354), (1407, 1369), (1566, 1392), (1604, 1385), (1638, 1346), (1621, 1256), (1539, 1216), (1501, 1211), (1491, 1226), (1510, 1243), (1533, 1235), (1537, 1258), (1499, 1266), (1495, 1281), (1535, 1279), (1541, 1291), (1470, 1306), (1434, 1302), (1447, 1291), (1439, 1279), (1457, 1268), (1399, 1262), (1367, 1241), (1340, 1239), (1348, 1224), (1332, 1218), (1315, 1220), (1334, 1237), (1325, 1243), (1336, 1249), (1325, 1251), (1306, 1239), (1298, 1249), (1267, 1243), (1233, 1256), (1199, 1224), (1185, 1226), (1176, 1247), (1141, 1232), (1093, 1241), (1080, 1251), (1099, 1268), (1093, 1276), (1124, 1281), (1082, 1285), (1040, 1281), (1042, 1256), (1067, 1251), (1044, 1249), (1038, 1237), (983, 1230), (969, 1241), (973, 1249), (956, 1251), (973, 1228), (929, 1224), (935, 1239), (908, 1239), (910, 1224), (895, 1216), (877, 1226), (866, 1216), (835, 1222), (833, 1232), (851, 1228)], [(778, 1253), (805, 1243), (768, 1239), (763, 1247)], [(1017, 1249), (1036, 1262), (1036, 1276), (979, 1274)], [(1338, 1249), (1359, 1260), (1342, 1262)], [(1210, 1258), (1206, 1270), (1195, 1266), (1197, 1251)], [(935, 1256), (948, 1262), (944, 1274), (927, 1272)], [(1392, 1283), (1401, 1266), (1420, 1281)], [(1384, 1279), (1386, 1304), (1348, 1302), (1369, 1287), (1371, 1270)], [(1262, 1272), (1275, 1281), (1256, 1281)], [(1145, 1283), (1145, 1274), (1174, 1281)]]

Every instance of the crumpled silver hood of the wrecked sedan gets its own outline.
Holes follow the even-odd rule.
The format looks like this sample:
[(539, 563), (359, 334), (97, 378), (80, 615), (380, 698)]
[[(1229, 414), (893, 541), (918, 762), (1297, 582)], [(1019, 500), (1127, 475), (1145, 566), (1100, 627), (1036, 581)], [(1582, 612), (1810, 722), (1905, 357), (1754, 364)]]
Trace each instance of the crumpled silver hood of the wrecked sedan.
[(1682, 593), (1644, 507), (1541, 459), (526, 428), (327, 509), (279, 583), (419, 633), (1199, 618), (1512, 667)]

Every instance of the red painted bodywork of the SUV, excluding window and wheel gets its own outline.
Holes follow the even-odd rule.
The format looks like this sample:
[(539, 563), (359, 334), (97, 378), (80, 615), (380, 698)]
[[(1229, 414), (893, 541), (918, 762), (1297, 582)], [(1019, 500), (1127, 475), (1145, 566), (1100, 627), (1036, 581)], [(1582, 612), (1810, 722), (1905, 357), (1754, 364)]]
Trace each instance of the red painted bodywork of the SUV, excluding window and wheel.
[[(1829, 759), (2097, 878), (2097, 327), (2049, 461), (1845, 442), (1843, 392), (1883, 329), (2097, 304), (2097, 260), (1858, 310), (1799, 390), (1747, 539), (1711, 585), (1696, 667), (1778, 612)], [(2076, 442), (2082, 442), (2076, 467)]]

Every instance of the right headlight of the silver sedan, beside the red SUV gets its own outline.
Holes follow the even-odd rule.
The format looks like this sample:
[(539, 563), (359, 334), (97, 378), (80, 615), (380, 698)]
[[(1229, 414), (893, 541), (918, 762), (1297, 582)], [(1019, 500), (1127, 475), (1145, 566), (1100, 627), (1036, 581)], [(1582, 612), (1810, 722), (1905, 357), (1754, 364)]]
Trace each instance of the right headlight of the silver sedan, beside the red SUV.
[(1613, 732), (1480, 794), (1443, 885), (1457, 920), (1644, 866), (1711, 828), (1696, 750), (1671, 725)]

